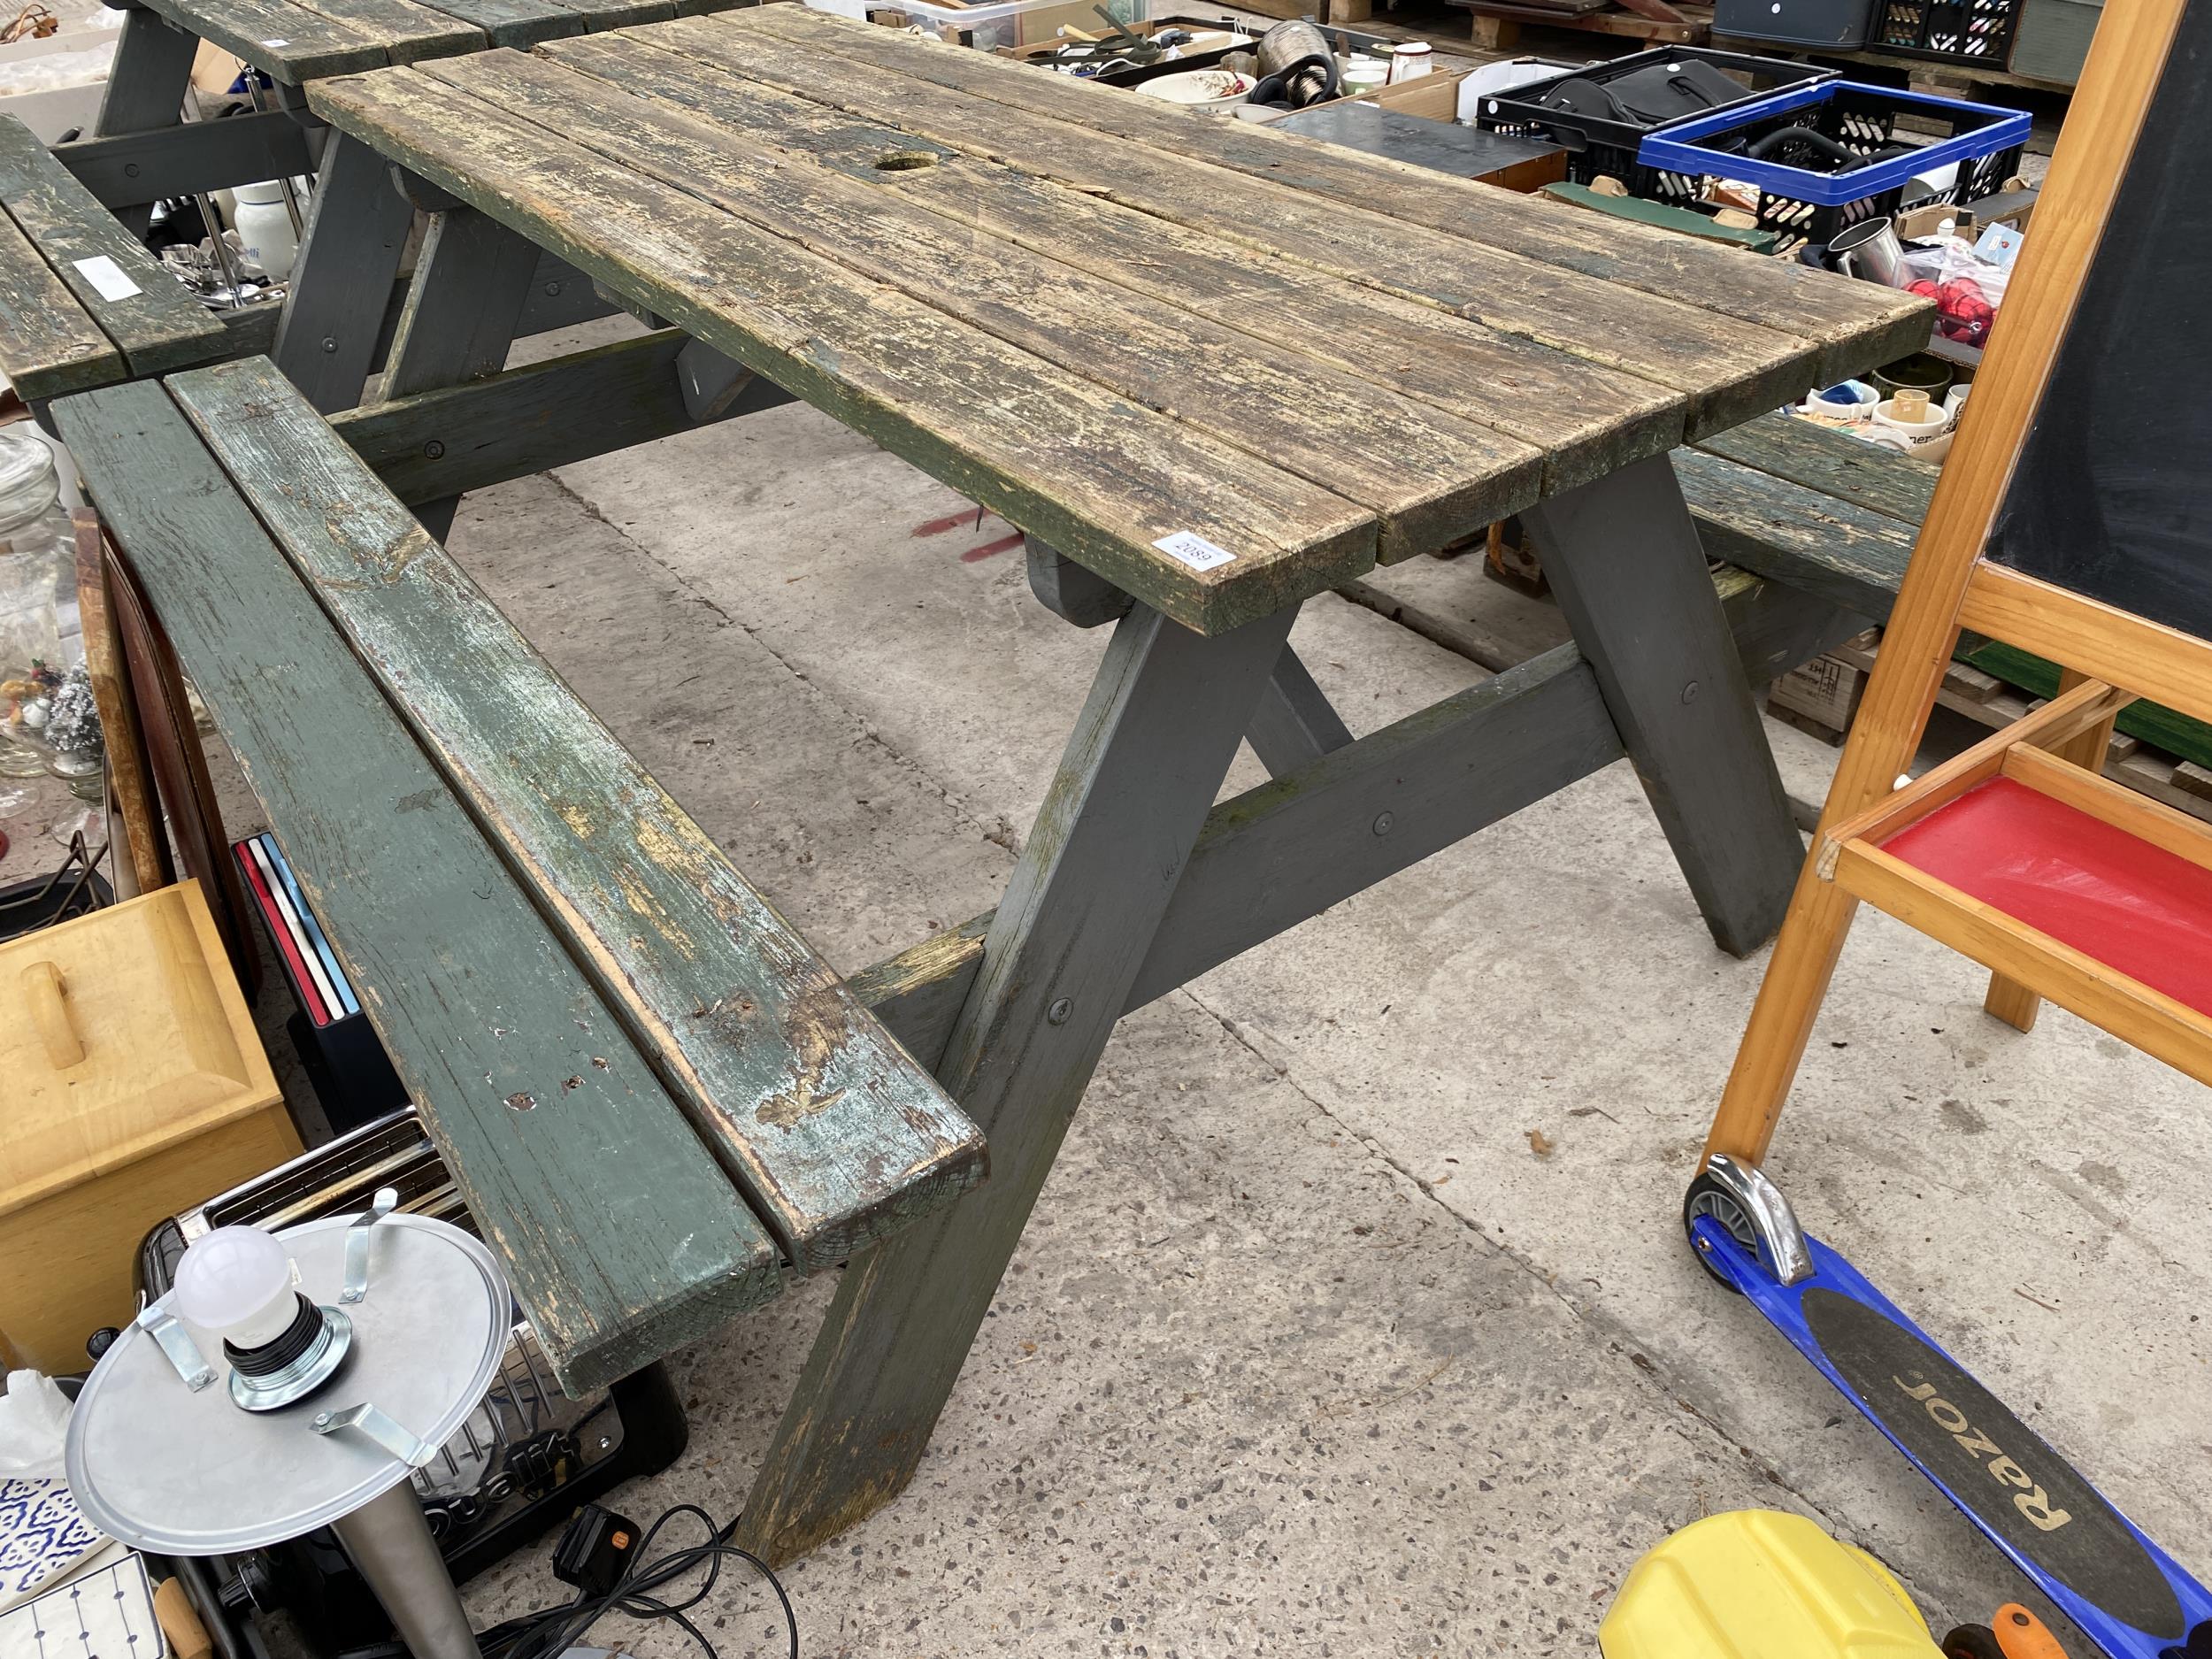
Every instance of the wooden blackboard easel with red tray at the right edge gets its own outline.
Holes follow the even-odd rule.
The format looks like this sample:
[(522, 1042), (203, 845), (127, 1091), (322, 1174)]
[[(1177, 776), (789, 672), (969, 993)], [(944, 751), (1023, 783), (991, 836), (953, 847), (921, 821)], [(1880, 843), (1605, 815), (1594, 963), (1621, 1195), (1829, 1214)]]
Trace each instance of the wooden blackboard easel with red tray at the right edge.
[[(1765, 1157), (1860, 900), (2212, 1082), (2212, 827), (2097, 770), (2135, 697), (2212, 721), (2205, 131), (2212, 0), (2110, 7), (1708, 1155)], [(1960, 630), (2062, 692), (1905, 783)]]

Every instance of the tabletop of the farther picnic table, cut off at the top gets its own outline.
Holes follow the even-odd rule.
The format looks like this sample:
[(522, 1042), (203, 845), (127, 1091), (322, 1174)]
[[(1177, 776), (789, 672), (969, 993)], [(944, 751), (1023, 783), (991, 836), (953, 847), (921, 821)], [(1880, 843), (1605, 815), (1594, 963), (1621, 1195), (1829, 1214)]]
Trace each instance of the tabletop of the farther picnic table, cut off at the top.
[(535, 46), (743, 0), (142, 0), (288, 86), (385, 64)]

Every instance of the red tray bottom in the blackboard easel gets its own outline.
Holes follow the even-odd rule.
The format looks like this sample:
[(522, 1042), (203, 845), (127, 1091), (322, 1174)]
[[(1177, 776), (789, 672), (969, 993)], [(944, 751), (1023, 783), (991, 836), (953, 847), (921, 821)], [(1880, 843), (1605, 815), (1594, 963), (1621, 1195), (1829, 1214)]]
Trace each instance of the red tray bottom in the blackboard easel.
[(2013, 779), (1991, 779), (1880, 845), (1891, 858), (2212, 1013), (2212, 869)]

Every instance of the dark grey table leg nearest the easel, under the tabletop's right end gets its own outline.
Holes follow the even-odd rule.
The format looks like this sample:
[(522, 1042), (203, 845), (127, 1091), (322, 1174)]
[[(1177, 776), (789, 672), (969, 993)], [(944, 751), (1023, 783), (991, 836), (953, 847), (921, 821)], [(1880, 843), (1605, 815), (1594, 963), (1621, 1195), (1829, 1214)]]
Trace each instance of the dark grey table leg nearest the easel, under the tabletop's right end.
[(1805, 843), (1666, 456), (1522, 513), (1714, 942), (1783, 922)]

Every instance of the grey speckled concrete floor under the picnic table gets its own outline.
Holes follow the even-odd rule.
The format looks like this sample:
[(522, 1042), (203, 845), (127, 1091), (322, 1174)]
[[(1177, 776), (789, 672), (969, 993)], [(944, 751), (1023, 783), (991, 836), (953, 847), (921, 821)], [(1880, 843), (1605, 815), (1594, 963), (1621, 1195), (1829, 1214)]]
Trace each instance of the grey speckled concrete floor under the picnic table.
[[(489, 491), (451, 542), (858, 969), (995, 900), (1104, 646), (960, 513), (790, 407)], [(1473, 560), (1383, 580), (1528, 624)], [(1296, 644), (1356, 732), (1482, 672), (1336, 597)], [(1834, 752), (1770, 734), (1818, 799)], [(785, 1575), (803, 1650), (1595, 1655), (1637, 1555), (1732, 1506), (1876, 1551), (1938, 1632), (1986, 1617), (1995, 1553), (1683, 1248), (1761, 967), (1621, 763), (1126, 1020), (920, 1478)], [(1980, 993), (1869, 914), (1772, 1170), (2212, 1568), (2203, 1093)], [(823, 1303), (677, 1358), (692, 1444), (626, 1513), (737, 1511)], [(538, 1553), (469, 1590), (478, 1624), (564, 1597)], [(706, 1613), (726, 1659), (781, 1652), (761, 1595)]]

